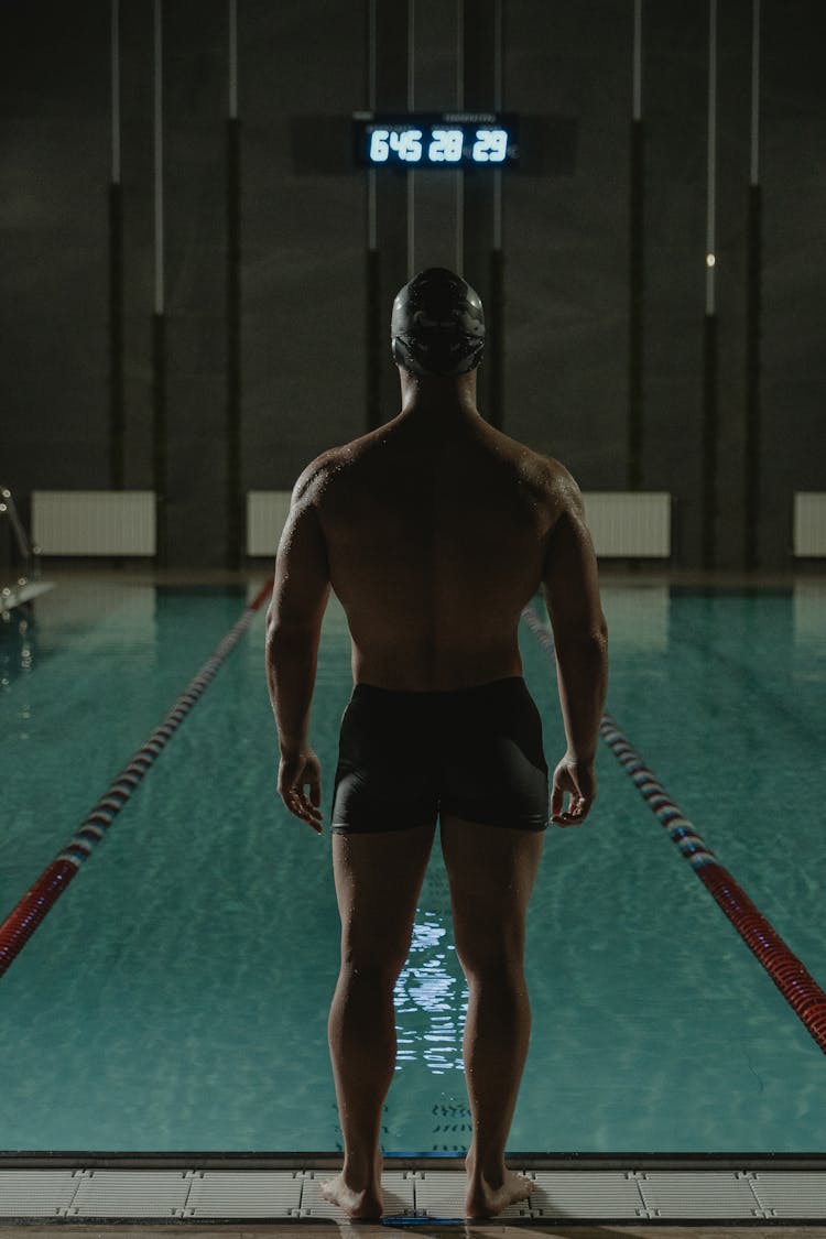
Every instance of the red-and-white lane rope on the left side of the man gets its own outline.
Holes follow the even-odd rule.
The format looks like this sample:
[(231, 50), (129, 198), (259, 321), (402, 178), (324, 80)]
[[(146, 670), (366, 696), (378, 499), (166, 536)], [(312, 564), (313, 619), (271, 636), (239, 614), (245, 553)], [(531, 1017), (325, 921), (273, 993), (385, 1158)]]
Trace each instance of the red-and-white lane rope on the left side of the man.
[(59, 855), (48, 865), (35, 885), (24, 895), (0, 926), (0, 976), (14, 963), (31, 935), (43, 921), (43, 917), (69, 885), (100, 840), (105, 836), (113, 821), (123, 809), (144, 776), (151, 769), (159, 756), (181, 726), (186, 716), (203, 695), (215, 676), (219, 667), (244, 636), (255, 613), (272, 592), (272, 581), (267, 581), (255, 597), (246, 605), (244, 613), (215, 647), (201, 670), (194, 675), (163, 721), (151, 732), (130, 761), (116, 776), (80, 824)]

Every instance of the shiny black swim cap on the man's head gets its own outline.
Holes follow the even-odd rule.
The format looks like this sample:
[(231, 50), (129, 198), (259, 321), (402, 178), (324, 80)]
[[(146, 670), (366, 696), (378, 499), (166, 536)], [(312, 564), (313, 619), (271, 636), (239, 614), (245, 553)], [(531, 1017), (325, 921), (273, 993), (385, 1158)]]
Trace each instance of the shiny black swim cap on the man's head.
[(396, 366), (442, 378), (466, 374), (482, 361), (482, 301), (461, 275), (428, 266), (396, 295), (390, 320)]

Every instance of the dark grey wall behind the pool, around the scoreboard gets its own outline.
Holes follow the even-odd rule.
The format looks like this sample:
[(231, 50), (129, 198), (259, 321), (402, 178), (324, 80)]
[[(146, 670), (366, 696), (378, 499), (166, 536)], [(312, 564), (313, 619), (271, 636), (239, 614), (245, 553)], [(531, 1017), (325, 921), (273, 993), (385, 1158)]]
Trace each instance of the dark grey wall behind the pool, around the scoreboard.
[[(480, 408), (563, 460), (585, 489), (628, 481), (633, 0), (504, 4), (503, 103), (526, 167), (503, 173), (502, 383)], [(121, 2), (123, 353), (111, 368), (109, 0), (0, 7), (0, 481), (154, 484), (152, 5)], [(493, 0), (464, 6), (464, 103), (495, 84)], [(367, 173), (336, 150), (368, 105), (368, 2), (238, 0), (241, 491), (398, 409), (386, 320), (410, 263), (457, 265), (456, 177), (376, 176), (378, 361), (368, 341)], [(416, 107), (457, 103), (457, 6), (416, 0)], [(228, 561), (227, 0), (166, 0), (166, 479), (168, 561)], [(378, 0), (375, 102), (407, 100), (407, 6)], [(791, 496), (824, 488), (826, 14), (763, 0), (757, 559), (789, 563)], [(715, 560), (743, 563), (750, 0), (719, 4)], [(677, 499), (677, 558), (702, 560), (707, 0), (644, 6), (641, 442), (644, 488)], [(542, 119), (544, 118), (544, 119)], [(541, 140), (530, 135), (537, 134)], [(533, 141), (533, 150), (529, 146)], [(303, 145), (301, 145), (303, 142)], [(544, 146), (542, 146), (544, 144)], [(529, 157), (530, 156), (530, 157)], [(462, 265), (495, 285), (494, 190), (464, 178)], [(492, 305), (492, 311), (494, 306)], [(493, 359), (493, 354), (492, 354)], [(378, 370), (378, 373), (376, 373)], [(114, 384), (119, 388), (113, 405)], [(232, 556), (229, 556), (232, 558)]]

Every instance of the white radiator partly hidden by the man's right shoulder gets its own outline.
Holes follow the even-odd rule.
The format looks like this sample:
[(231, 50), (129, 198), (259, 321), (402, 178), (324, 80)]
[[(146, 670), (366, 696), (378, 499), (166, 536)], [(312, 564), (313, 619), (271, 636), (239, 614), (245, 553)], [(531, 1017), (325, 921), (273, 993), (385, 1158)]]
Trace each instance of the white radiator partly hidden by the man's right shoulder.
[(582, 498), (597, 555), (670, 556), (671, 496), (666, 491), (589, 491)]

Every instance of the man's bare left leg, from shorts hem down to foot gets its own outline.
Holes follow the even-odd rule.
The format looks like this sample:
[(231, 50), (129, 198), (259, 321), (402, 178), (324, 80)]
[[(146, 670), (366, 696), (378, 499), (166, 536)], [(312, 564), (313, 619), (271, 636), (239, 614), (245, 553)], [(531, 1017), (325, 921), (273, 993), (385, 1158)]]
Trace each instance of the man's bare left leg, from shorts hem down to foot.
[(333, 835), (342, 968), (329, 1053), (344, 1167), (322, 1192), (353, 1218), (381, 1215), (379, 1124), (396, 1057), (393, 990), (410, 949), (435, 829)]

